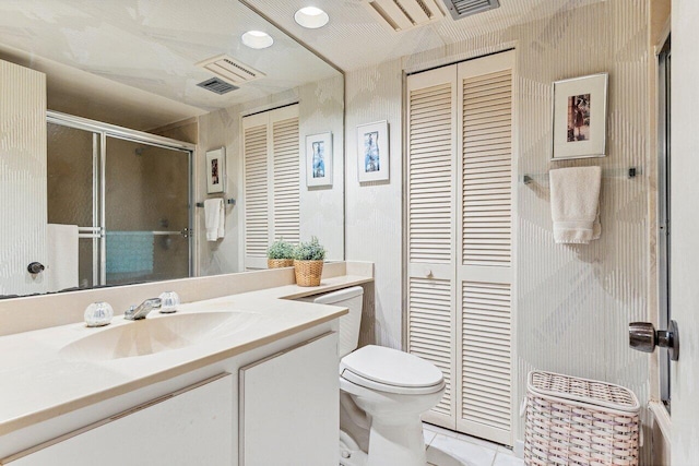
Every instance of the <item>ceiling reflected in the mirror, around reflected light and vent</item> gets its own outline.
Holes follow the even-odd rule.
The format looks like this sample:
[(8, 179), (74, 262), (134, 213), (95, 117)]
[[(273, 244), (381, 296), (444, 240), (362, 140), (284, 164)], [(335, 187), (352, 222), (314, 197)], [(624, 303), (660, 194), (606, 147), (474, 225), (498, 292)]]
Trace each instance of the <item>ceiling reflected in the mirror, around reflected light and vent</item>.
[[(244, 46), (240, 36), (250, 29), (269, 33), (274, 45)], [(50, 70), (49, 89), (56, 86), (51, 80), (83, 84), (74, 73), (66, 74), (71, 67), (91, 73), (83, 76), (86, 82), (95, 84), (100, 80), (93, 76), (99, 76), (161, 96), (171, 103), (155, 98), (151, 104), (180, 105), (175, 113), (189, 116), (337, 74), (237, 0), (2, 0), (0, 53)], [(198, 87), (211, 73), (196, 63), (221, 53), (266, 77), (222, 96)], [(104, 89), (112, 91), (108, 84)], [(135, 93), (137, 100), (143, 97)]]

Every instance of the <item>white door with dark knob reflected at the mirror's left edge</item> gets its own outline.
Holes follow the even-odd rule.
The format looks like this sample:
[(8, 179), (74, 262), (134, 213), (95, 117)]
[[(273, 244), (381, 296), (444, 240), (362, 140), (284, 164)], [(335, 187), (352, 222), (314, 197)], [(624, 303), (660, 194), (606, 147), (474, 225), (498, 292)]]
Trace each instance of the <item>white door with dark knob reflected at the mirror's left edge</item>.
[(46, 75), (0, 60), (0, 296), (48, 290)]

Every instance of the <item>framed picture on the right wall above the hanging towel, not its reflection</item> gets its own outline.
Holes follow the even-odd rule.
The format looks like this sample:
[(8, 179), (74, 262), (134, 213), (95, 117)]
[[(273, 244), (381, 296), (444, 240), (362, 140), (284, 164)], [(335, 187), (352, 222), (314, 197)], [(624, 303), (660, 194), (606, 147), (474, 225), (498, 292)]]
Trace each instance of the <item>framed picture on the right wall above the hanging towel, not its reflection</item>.
[(552, 160), (606, 156), (608, 74), (554, 82)]

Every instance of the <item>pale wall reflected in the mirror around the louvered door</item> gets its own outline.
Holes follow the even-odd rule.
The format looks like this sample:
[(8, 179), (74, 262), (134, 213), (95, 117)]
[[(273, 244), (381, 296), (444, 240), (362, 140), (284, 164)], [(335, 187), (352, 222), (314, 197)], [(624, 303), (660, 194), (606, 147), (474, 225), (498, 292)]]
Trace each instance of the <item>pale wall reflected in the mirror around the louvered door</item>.
[[(344, 259), (343, 77), (337, 75), (199, 118), (199, 145), (194, 160), (194, 199), (197, 202), (202, 202), (208, 198), (205, 179), (202, 175), (206, 151), (225, 146), (224, 194), (226, 198), (236, 199), (237, 204), (226, 207), (226, 235), (223, 240), (206, 241), (204, 235), (196, 238), (199, 256), (196, 271), (198, 276), (242, 271), (245, 199), (242, 196), (241, 117), (296, 101), (299, 104), (299, 154), (301, 155), (301, 240), (307, 241), (311, 235), (315, 235), (327, 248), (328, 260)], [(333, 133), (333, 186), (309, 189), (306, 187), (305, 138), (308, 134), (327, 131)], [(198, 231), (205, 230), (203, 208), (197, 210), (194, 223)]]

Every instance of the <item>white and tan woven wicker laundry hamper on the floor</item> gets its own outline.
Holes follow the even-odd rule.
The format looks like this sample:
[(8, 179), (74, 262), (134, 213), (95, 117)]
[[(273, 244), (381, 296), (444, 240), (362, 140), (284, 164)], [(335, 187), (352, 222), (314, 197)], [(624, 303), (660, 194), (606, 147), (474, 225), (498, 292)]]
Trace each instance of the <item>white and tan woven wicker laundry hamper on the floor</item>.
[(619, 385), (532, 371), (524, 463), (638, 465), (640, 405)]

